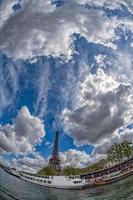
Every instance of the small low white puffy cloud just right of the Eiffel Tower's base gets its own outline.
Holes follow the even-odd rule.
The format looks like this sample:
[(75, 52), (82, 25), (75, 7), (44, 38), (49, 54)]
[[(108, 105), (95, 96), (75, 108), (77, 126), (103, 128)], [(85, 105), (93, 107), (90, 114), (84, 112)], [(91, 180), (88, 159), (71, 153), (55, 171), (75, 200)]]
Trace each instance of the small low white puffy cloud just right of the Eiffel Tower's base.
[(76, 149), (69, 149), (61, 153), (61, 162), (63, 167), (84, 167), (89, 162), (90, 156), (85, 151), (78, 151)]

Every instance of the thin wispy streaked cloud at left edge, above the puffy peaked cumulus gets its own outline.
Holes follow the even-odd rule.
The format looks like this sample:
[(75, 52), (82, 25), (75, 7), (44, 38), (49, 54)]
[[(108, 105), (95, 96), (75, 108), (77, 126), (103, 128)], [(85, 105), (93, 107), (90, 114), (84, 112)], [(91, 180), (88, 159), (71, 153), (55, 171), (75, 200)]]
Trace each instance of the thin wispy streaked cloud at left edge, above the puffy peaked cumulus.
[(4, 59), (1, 58), (0, 69), (0, 117), (2, 116), (4, 109), (10, 106), (10, 109), (14, 107), (16, 95), (19, 91), (19, 78), (23, 71), (21, 62), (17, 62), (16, 65), (10, 61), (5, 64)]

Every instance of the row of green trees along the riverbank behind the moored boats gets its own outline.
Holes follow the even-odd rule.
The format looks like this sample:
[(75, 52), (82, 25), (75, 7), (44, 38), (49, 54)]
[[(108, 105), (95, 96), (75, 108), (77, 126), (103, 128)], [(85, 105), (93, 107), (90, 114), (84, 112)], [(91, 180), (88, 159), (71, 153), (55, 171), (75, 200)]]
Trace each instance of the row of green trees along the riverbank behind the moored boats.
[[(90, 166), (84, 168), (74, 168), (72, 166), (65, 167), (60, 174), (61, 175), (78, 175), (83, 173), (89, 173), (97, 170), (101, 170), (113, 164), (121, 163), (126, 159), (133, 156), (133, 146), (129, 141), (123, 141), (121, 143), (114, 143), (110, 149), (107, 150), (107, 158), (102, 159)], [(58, 175), (54, 168), (44, 167), (38, 172), (38, 175)]]

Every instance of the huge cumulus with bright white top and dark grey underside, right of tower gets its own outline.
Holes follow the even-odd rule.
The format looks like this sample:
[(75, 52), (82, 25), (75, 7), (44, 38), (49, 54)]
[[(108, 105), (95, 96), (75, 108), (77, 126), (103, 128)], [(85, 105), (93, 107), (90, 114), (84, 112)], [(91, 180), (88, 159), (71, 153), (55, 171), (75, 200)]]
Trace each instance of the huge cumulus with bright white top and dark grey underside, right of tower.
[(96, 144), (133, 118), (132, 87), (101, 69), (79, 83), (75, 99), (76, 107), (64, 109), (62, 119), (77, 143)]

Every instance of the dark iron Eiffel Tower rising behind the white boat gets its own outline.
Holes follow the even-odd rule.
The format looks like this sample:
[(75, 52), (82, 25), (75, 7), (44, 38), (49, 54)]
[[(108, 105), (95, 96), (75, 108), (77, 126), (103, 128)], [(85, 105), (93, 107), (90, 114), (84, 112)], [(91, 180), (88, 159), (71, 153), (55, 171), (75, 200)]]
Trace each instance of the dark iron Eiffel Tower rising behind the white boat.
[(52, 152), (51, 158), (49, 159), (48, 166), (54, 168), (57, 171), (61, 171), (60, 158), (59, 158), (59, 132), (58, 130), (55, 133), (53, 152)]

